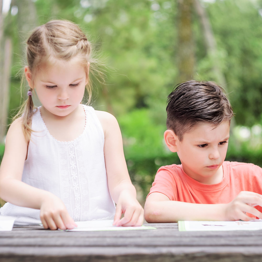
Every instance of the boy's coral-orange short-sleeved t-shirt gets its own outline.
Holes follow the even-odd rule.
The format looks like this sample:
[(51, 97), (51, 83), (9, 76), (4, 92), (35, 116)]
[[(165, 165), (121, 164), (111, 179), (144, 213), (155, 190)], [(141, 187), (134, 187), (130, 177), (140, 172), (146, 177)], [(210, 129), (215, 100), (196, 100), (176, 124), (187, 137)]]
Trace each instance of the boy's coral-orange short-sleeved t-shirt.
[[(182, 165), (162, 166), (156, 173), (149, 194), (159, 192), (170, 200), (196, 204), (226, 204), (241, 191), (262, 194), (262, 168), (254, 164), (229, 161), (224, 161), (222, 167), (222, 181), (207, 185), (189, 177)], [(262, 212), (260, 206), (256, 208)]]

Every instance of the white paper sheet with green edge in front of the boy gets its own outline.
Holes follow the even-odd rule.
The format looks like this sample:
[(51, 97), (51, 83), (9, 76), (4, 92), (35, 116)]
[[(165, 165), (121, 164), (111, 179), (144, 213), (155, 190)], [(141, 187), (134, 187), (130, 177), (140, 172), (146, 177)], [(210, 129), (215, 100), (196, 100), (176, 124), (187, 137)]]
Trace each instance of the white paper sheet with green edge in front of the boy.
[(262, 220), (253, 221), (178, 221), (179, 231), (262, 230)]

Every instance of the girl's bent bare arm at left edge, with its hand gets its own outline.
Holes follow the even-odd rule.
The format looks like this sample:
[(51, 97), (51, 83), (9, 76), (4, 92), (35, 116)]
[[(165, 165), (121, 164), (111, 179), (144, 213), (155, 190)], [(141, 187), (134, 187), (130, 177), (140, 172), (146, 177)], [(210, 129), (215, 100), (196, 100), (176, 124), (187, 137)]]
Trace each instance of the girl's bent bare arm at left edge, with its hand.
[(6, 136), (0, 166), (0, 197), (17, 206), (40, 209), (45, 228), (73, 228), (76, 225), (61, 199), (21, 181), (27, 148), (28, 141), (23, 134), (21, 118), (18, 118), (10, 125)]

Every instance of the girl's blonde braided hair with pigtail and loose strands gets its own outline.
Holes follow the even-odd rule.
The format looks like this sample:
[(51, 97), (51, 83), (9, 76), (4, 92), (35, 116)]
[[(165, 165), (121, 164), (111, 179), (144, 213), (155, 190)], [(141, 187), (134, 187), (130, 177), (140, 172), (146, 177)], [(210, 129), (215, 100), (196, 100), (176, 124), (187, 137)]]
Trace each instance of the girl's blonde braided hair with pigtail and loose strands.
[[(90, 70), (94, 69), (92, 68), (92, 62), (95, 62), (95, 59), (91, 59), (91, 44), (78, 25), (66, 20), (49, 21), (37, 27), (26, 44), (26, 58), (32, 74), (32, 83), (34, 83), (33, 76), (41, 69), (41, 65), (52, 63), (55, 59), (69, 61), (75, 56), (79, 57), (80, 63), (83, 64), (86, 71), (88, 80), (86, 89), (88, 92), (88, 103), (90, 102), (91, 83), (88, 63), (90, 63)], [(99, 74), (101, 75), (102, 73), (99, 72)], [(32, 88), (29, 91), (32, 91)], [(34, 109), (32, 96), (28, 96), (18, 114), (14, 117), (22, 117), (23, 132), (28, 141), (32, 132), (31, 123)]]

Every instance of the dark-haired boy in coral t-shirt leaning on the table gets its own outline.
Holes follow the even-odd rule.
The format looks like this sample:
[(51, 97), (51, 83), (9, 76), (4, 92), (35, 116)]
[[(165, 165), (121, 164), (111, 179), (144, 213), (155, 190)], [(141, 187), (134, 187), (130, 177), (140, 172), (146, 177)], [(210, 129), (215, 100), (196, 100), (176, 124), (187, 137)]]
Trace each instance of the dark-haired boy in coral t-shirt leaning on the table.
[(181, 165), (161, 167), (145, 203), (147, 222), (262, 219), (262, 169), (224, 161), (233, 111), (212, 82), (187, 81), (167, 100), (164, 140)]

